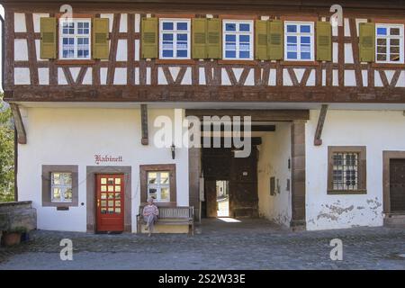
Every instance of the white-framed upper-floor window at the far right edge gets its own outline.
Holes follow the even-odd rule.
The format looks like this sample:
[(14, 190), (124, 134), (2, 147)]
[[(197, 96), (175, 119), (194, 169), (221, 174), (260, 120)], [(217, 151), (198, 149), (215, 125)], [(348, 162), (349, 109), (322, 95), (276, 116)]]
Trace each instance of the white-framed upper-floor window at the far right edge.
[(376, 24), (376, 62), (403, 63), (403, 25)]

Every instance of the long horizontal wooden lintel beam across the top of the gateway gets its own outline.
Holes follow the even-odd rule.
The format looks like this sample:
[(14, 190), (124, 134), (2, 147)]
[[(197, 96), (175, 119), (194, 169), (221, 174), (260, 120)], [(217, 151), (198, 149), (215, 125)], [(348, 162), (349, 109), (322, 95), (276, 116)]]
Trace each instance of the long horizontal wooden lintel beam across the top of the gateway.
[(202, 120), (203, 116), (250, 116), (251, 121), (307, 121), (310, 119), (309, 110), (256, 110), (256, 109), (186, 109), (185, 116), (195, 116)]

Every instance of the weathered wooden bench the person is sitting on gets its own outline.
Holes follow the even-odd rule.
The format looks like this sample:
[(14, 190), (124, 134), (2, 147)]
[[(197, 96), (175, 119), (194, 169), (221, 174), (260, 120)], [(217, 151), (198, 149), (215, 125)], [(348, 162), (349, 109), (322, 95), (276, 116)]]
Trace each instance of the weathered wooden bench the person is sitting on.
[[(139, 206), (137, 215), (138, 233), (140, 225), (146, 224), (143, 220), (143, 207)], [(194, 207), (158, 207), (159, 215), (157, 216), (157, 225), (188, 225), (189, 231), (194, 235)]]

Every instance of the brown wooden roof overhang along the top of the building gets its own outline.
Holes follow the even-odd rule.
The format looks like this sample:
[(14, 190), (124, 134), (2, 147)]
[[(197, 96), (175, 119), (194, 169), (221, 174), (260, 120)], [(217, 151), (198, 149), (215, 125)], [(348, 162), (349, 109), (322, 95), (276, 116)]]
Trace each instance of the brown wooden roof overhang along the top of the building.
[(0, 0), (6, 8), (26, 11), (58, 9), (62, 4), (71, 4), (78, 10), (94, 11), (141, 11), (143, 13), (240, 13), (271, 14), (277, 12), (320, 13), (329, 12), (332, 4), (340, 4), (344, 13), (401, 15), (405, 0)]

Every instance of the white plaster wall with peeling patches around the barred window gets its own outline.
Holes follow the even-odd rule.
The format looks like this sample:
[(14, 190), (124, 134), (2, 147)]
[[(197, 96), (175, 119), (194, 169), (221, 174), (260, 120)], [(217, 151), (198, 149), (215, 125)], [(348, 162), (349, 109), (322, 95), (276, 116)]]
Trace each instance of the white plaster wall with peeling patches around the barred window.
[[(383, 225), (383, 150), (405, 150), (401, 111), (329, 111), (322, 145), (313, 138), (319, 111), (306, 124), (307, 229)], [(366, 146), (367, 193), (327, 194), (328, 146)]]

